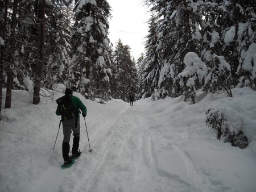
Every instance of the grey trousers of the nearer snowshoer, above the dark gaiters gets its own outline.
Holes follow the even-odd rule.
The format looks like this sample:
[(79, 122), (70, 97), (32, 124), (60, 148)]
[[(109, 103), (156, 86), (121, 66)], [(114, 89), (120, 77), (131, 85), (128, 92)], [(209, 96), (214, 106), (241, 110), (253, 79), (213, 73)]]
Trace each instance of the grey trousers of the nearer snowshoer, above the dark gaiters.
[[(63, 125), (63, 143), (69, 143), (71, 133), (73, 131), (73, 136), (80, 136), (80, 119), (77, 118), (77, 126), (76, 126), (76, 118), (72, 118), (67, 120), (66, 122), (62, 122)], [(76, 127), (75, 127), (76, 126)]]

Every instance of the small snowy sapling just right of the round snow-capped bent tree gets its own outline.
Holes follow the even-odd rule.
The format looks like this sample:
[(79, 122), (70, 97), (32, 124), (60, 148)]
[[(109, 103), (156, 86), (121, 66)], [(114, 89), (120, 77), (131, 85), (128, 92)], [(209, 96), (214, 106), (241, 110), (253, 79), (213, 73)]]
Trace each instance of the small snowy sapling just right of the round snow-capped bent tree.
[(231, 85), (231, 69), (228, 62), (223, 56), (214, 54), (210, 61), (209, 73), (205, 78), (204, 89), (211, 93), (225, 90), (229, 97), (232, 97)]

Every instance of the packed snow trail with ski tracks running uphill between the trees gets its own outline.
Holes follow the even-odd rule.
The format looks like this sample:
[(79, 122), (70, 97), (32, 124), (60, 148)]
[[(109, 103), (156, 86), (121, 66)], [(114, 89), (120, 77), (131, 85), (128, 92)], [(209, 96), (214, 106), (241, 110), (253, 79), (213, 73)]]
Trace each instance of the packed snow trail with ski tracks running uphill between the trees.
[[(156, 157), (155, 146), (162, 136), (147, 103), (134, 107), (124, 103), (120, 111), (90, 135), (92, 153), (85, 143), (72, 168), (61, 170), (53, 162), (31, 191), (210, 191), (204, 176), (173, 142), (167, 158), (159, 161)], [(168, 164), (169, 170), (159, 163)], [(181, 173), (187, 175), (180, 177)]]

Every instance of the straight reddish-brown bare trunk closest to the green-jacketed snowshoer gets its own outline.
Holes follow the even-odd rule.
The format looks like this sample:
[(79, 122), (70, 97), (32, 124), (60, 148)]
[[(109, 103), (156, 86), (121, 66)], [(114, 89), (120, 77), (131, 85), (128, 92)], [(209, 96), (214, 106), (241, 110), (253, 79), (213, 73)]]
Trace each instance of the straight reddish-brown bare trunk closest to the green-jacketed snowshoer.
[(37, 72), (35, 74), (35, 86), (34, 86), (34, 97), (33, 104), (38, 105), (40, 102), (40, 87), (41, 80), (43, 75), (43, 66), (44, 66), (44, 36), (45, 36), (45, 28), (46, 28), (46, 0), (41, 0), (39, 3), (39, 21), (40, 21), (40, 34), (38, 37), (38, 49), (39, 49), (39, 59)]

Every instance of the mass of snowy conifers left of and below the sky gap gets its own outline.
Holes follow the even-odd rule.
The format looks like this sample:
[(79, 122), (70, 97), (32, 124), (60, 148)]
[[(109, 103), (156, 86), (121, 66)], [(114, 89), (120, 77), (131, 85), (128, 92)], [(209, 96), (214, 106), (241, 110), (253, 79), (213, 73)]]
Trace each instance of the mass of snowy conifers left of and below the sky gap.
[(28, 90), (35, 105), (55, 84), (92, 100), (136, 94), (130, 47), (119, 40), (113, 50), (108, 37), (110, 8), (106, 0), (0, 0), (0, 111), (11, 108), (13, 89)]

